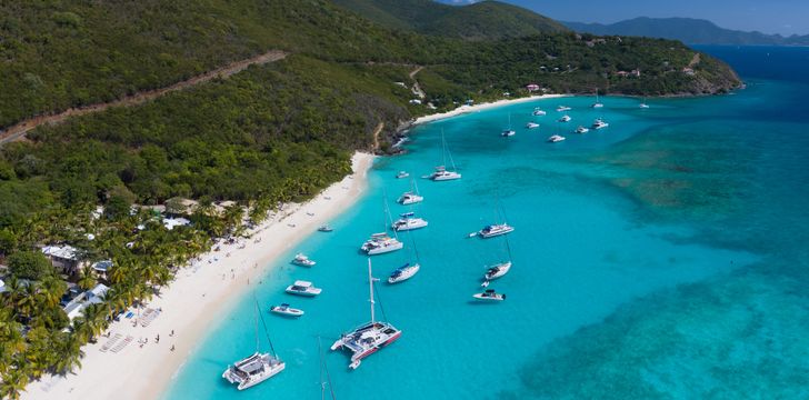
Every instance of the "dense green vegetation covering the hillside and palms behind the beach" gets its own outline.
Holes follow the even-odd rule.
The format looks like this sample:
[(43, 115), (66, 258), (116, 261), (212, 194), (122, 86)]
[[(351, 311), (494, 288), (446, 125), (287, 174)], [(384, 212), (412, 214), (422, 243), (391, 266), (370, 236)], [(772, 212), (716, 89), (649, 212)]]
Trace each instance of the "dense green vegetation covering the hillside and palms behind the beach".
[[(482, 19), (491, 7), (505, 6), (452, 9), (461, 10), (452, 18)], [(413, 22), (390, 10), (400, 23)], [(78, 367), (81, 346), (110, 318), (148, 300), (212, 239), (239, 234), (246, 210), (258, 222), (279, 202), (340, 179), (351, 151), (372, 150), (380, 127), (386, 150), (401, 122), (431, 112), (409, 103), (417, 66), (425, 67), (416, 76), (425, 102), (438, 109), (503, 91), (526, 94), (529, 82), (558, 92), (639, 94), (738, 83), (706, 56), (693, 76), (681, 73), (695, 52), (678, 42), (569, 32), (518, 38), (502, 32), (536, 27), (522, 31), (497, 16), (503, 14), (496, 14), (497, 29), (465, 40), (419, 33), (430, 32), (425, 27), (389, 30), (319, 0), (0, 3), (0, 126), (167, 86), (271, 49), (291, 53), (138, 107), (43, 126), (0, 149), (0, 257), (9, 267), (0, 298), (0, 396)], [(436, 23), (452, 26), (442, 21)], [(642, 76), (616, 76), (631, 69)], [(192, 227), (169, 231), (149, 212), (130, 212), (132, 204), (171, 209), (174, 197), (200, 200)], [(214, 200), (237, 204), (214, 212)], [(89, 269), (60, 277), (38, 250), (51, 243), (114, 267), (106, 278)], [(59, 306), (64, 281), (89, 289), (100, 279), (111, 286), (104, 302), (68, 321)]]

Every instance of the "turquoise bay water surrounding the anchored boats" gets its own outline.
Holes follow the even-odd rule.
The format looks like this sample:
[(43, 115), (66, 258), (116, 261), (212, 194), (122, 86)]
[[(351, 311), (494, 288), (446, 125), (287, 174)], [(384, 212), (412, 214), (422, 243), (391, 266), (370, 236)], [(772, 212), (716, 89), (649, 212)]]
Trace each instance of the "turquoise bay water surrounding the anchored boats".
[[(266, 314), (287, 370), (238, 392), (223, 368), (253, 350), (252, 293), (221, 316), (167, 391), (167, 399), (318, 398), (318, 337), (328, 346), (368, 320), (366, 258), (358, 247), (382, 223), (382, 203), (429, 173), (445, 132), (463, 179), (417, 180), (413, 231), (421, 271), (379, 287), (399, 341), (348, 370), (329, 352), (341, 399), (588, 399), (809, 397), (809, 87), (762, 76), (745, 62), (760, 49), (728, 52), (749, 82), (702, 99), (550, 99), (452, 118), (412, 131), (408, 154), (382, 159), (368, 194), (272, 268), (254, 291), (262, 308), (290, 301), (300, 320)], [(779, 50), (772, 50), (779, 51)], [(809, 50), (787, 54), (800, 59)], [(802, 51), (802, 53), (801, 53)], [(735, 57), (735, 58), (733, 58)], [(802, 78), (800, 78), (802, 79)], [(556, 106), (573, 107), (568, 124)], [(522, 126), (541, 106), (539, 130)], [(511, 114), (517, 136), (499, 137)], [(579, 136), (577, 124), (611, 126)], [(546, 143), (553, 133), (561, 143)], [(508, 257), (503, 241), (466, 238), (497, 221), (516, 227), (513, 268), (490, 288), (498, 304), (470, 302), (483, 264)], [(373, 257), (387, 277), (412, 258)], [(312, 269), (286, 262), (304, 251)], [(292, 298), (296, 279), (323, 288)], [(378, 309), (378, 316), (381, 310)], [(264, 343), (264, 347), (267, 344)]]

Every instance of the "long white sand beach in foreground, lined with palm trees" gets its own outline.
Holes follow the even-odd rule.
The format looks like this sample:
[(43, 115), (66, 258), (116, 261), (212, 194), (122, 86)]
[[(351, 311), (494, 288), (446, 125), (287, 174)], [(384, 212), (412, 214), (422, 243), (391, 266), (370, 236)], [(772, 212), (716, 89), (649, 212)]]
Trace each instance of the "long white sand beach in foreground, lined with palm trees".
[[(206, 329), (233, 306), (240, 293), (259, 282), (270, 261), (360, 198), (368, 187), (367, 174), (373, 158), (367, 153), (354, 153), (351, 159), (353, 174), (303, 204), (284, 206), (278, 216), (262, 223), (251, 239), (242, 241), (242, 249), (239, 249), (239, 243), (221, 244), (220, 251), (209, 252), (202, 256), (201, 261), (181, 270), (177, 279), (163, 288), (161, 297), (147, 306), (162, 309), (147, 328), (140, 324), (132, 327), (133, 319), (123, 318), (110, 326), (111, 337), (116, 333), (133, 337), (118, 353), (101, 352), (108, 340), (101, 337), (98, 343), (82, 349), (86, 357), (76, 374), (44, 377), (30, 384), (22, 398), (158, 398)], [(254, 242), (256, 239), (260, 242)], [(214, 258), (218, 260), (214, 261)], [(173, 337), (170, 336), (172, 330)], [(159, 343), (154, 342), (157, 334), (160, 334)], [(138, 342), (141, 338), (149, 340), (142, 347)], [(170, 351), (171, 346), (176, 347), (174, 351)]]

